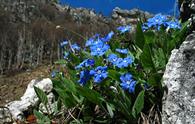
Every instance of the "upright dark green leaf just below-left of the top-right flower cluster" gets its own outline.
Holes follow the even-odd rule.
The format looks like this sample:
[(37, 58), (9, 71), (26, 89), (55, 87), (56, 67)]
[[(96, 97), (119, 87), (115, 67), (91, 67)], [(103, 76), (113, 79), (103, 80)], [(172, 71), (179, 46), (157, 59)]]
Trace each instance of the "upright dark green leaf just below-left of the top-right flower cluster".
[(145, 44), (145, 38), (144, 38), (144, 33), (142, 31), (141, 23), (137, 24), (136, 36), (135, 36), (135, 44), (140, 49), (143, 49), (144, 44)]

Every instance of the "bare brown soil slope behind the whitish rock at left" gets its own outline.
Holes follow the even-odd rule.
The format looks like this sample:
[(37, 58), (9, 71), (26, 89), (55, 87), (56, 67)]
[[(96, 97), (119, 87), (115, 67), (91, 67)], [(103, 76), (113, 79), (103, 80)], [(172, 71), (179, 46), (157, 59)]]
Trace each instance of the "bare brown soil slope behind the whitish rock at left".
[(32, 79), (49, 77), (49, 67), (39, 66), (16, 74), (0, 75), (0, 106), (19, 100)]

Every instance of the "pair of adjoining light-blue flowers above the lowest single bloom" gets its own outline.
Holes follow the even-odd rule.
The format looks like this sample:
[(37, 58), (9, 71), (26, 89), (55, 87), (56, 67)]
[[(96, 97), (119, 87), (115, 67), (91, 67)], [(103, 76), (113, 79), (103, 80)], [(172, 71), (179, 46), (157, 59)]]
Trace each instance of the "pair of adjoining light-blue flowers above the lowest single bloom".
[(125, 68), (133, 63), (132, 57), (127, 56), (126, 58), (119, 58), (116, 54), (110, 54), (107, 60), (118, 68)]

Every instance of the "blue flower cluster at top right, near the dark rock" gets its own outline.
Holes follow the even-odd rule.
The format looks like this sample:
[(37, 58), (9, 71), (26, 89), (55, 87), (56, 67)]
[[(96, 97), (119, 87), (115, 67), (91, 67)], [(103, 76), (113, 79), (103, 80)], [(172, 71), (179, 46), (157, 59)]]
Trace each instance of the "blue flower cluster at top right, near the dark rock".
[(167, 16), (162, 14), (157, 14), (153, 18), (149, 18), (146, 23), (143, 24), (142, 29), (146, 31), (150, 28), (154, 28), (156, 30), (160, 30), (161, 26), (171, 29), (180, 29), (181, 26), (178, 20), (169, 21)]

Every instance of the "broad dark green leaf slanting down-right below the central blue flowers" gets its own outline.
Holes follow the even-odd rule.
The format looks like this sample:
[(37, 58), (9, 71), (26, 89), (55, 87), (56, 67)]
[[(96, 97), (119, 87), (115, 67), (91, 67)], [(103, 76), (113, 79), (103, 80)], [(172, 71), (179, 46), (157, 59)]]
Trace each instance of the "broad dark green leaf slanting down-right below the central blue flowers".
[(87, 98), (89, 101), (101, 105), (102, 101), (104, 101), (104, 98), (95, 90), (88, 89), (86, 87), (78, 86), (77, 91), (79, 94), (81, 94), (83, 97)]

